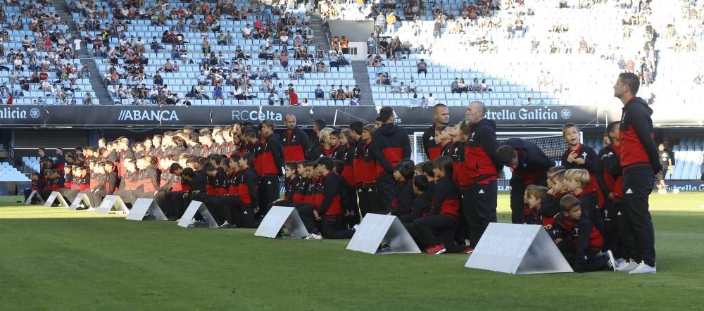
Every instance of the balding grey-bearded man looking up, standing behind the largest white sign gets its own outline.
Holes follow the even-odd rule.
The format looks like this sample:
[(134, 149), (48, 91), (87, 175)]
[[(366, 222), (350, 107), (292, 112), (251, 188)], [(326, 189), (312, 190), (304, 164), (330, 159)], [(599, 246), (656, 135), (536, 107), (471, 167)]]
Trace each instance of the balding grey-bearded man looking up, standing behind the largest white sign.
[(490, 222), (496, 222), (496, 179), (503, 165), (496, 159), (496, 123), (484, 119), (486, 107), (472, 101), (465, 120), (472, 125), (465, 141), (465, 163), (472, 185), (463, 189), (462, 208), (470, 226), (470, 243), (477, 246)]

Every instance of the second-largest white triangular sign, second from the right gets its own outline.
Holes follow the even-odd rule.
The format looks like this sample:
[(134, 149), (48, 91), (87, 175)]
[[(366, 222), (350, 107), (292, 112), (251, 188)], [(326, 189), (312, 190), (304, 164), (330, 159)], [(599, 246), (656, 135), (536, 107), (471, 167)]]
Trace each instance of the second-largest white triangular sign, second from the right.
[[(379, 249), (386, 240), (388, 248)], [(398, 217), (367, 214), (347, 244), (348, 250), (368, 254), (417, 254), (420, 248), (413, 241)]]

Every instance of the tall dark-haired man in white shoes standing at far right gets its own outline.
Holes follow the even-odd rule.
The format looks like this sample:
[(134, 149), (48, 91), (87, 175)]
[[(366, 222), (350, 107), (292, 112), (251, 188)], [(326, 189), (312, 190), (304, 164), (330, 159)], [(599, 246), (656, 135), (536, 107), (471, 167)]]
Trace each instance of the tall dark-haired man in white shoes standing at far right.
[(655, 273), (655, 229), (648, 211), (656, 173), (662, 170), (658, 148), (653, 140), (653, 110), (636, 97), (640, 81), (632, 73), (622, 73), (614, 86), (614, 96), (623, 103), (620, 125), (620, 160), (623, 167), (623, 196), (626, 215), (633, 229), (636, 254), (643, 263), (631, 273)]

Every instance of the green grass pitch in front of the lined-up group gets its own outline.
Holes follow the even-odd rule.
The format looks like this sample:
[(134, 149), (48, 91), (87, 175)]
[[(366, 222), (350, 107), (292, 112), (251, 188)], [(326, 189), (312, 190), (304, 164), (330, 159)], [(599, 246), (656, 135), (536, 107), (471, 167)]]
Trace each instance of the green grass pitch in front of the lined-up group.
[[(650, 196), (649, 275), (509, 275), (467, 269), (467, 255), (367, 255), (348, 240), (0, 200), (0, 310), (681, 310), (704, 297), (704, 193)], [(508, 196), (499, 205), (507, 222)]]

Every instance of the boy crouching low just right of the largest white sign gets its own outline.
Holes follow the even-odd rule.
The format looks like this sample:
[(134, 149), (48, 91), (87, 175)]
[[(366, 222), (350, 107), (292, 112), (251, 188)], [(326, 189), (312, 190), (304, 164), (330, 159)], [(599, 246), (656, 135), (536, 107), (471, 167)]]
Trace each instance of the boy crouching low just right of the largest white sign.
[(555, 216), (555, 222), (545, 229), (548, 231), (555, 229), (560, 232), (555, 238), (555, 243), (574, 272), (602, 269), (616, 271), (611, 251), (600, 253), (603, 238), (589, 218), (582, 217), (581, 205), (582, 202), (574, 196), (565, 196), (560, 200), (562, 213)]

